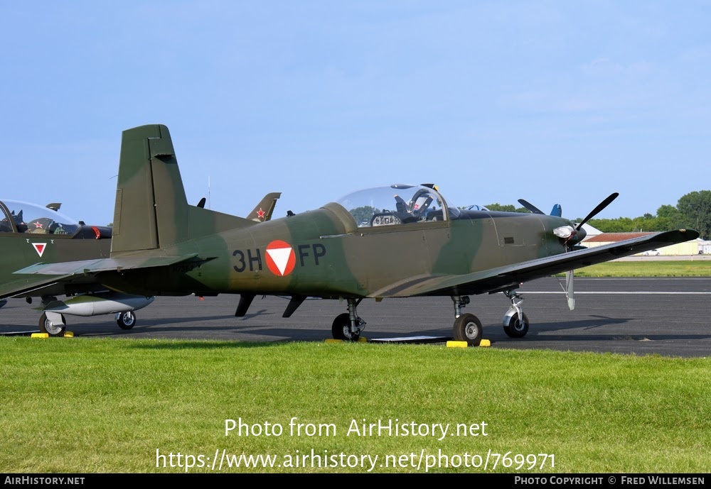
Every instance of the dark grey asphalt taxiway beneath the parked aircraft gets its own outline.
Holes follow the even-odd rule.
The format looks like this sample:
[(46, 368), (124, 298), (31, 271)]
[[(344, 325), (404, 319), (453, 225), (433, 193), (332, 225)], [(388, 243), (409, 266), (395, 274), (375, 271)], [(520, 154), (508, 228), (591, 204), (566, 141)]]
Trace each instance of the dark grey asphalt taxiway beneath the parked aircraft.
[[(464, 312), (483, 324), (491, 348), (538, 348), (636, 355), (702, 357), (711, 353), (711, 278), (576, 278), (576, 307), (570, 311), (562, 279), (522, 285), (528, 334), (510, 339), (501, 320), (506, 297), (471, 296)], [(68, 316), (75, 337), (216, 339), (230, 341), (324, 341), (346, 302), (306, 300), (291, 318), (282, 318), (287, 297), (257, 297), (245, 317), (234, 316), (239, 297), (157, 297), (136, 312), (133, 329), (119, 329), (113, 316)], [(0, 309), (0, 334), (37, 331), (40, 312), (24, 300)], [(358, 314), (368, 339), (451, 336), (454, 308), (449, 297), (363, 300)], [(58, 339), (58, 341), (62, 341)], [(67, 340), (71, 341), (71, 340)]]

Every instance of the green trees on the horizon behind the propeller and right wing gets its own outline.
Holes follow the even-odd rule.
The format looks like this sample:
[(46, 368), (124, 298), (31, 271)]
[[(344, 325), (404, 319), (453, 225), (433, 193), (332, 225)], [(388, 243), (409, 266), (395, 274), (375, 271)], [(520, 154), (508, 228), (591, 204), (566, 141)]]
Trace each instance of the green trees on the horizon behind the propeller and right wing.
[[(488, 204), (490, 211), (530, 212), (525, 207)], [(582, 221), (583, 217), (574, 219)], [(640, 231), (669, 231), (670, 229), (695, 229), (702, 239), (711, 236), (711, 190), (700, 190), (683, 195), (675, 206), (665, 204), (655, 215), (618, 217), (616, 219), (590, 219), (588, 223), (604, 233), (633, 233)]]

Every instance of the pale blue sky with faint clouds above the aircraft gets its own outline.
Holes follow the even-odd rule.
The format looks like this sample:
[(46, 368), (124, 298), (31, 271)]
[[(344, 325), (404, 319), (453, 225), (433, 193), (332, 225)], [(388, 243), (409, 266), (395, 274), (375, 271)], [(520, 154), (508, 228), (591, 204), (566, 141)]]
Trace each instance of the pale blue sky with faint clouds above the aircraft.
[(457, 205), (654, 214), (710, 189), (709, 1), (0, 2), (0, 198), (112, 220), (121, 131), (188, 200), (275, 216), (435, 182)]

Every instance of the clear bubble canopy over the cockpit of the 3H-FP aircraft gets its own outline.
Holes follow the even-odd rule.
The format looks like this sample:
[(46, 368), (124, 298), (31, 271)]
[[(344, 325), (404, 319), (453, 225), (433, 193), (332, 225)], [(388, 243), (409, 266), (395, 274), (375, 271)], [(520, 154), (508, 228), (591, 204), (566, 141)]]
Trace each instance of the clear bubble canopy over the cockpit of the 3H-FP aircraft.
[(459, 209), (425, 185), (373, 187), (336, 202), (351, 213), (358, 227), (447, 221), (459, 216)]

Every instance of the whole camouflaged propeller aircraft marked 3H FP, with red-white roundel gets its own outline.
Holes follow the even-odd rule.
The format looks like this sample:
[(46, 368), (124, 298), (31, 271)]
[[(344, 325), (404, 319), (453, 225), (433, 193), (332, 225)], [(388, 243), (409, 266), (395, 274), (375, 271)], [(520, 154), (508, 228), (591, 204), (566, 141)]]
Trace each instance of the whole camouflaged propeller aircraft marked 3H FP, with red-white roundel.
[(256, 295), (290, 296), (284, 317), (306, 297), (343, 299), (348, 312), (332, 333), (356, 340), (365, 325), (356, 308), (365, 298), (448, 296), (454, 338), (476, 345), (481, 322), (461, 310), (469, 295), (503, 292), (511, 302), (503, 329), (524, 336), (522, 282), (698, 236), (682, 229), (581, 248), (584, 223), (555, 209), (552, 216), (461, 210), (434, 185), (392, 185), (257, 224), (189, 205), (168, 128), (141, 126), (122, 135), (109, 258), (17, 270), (0, 285), (0, 299), (9, 290), (87, 280), (132, 295), (240, 294), (236, 316)]

